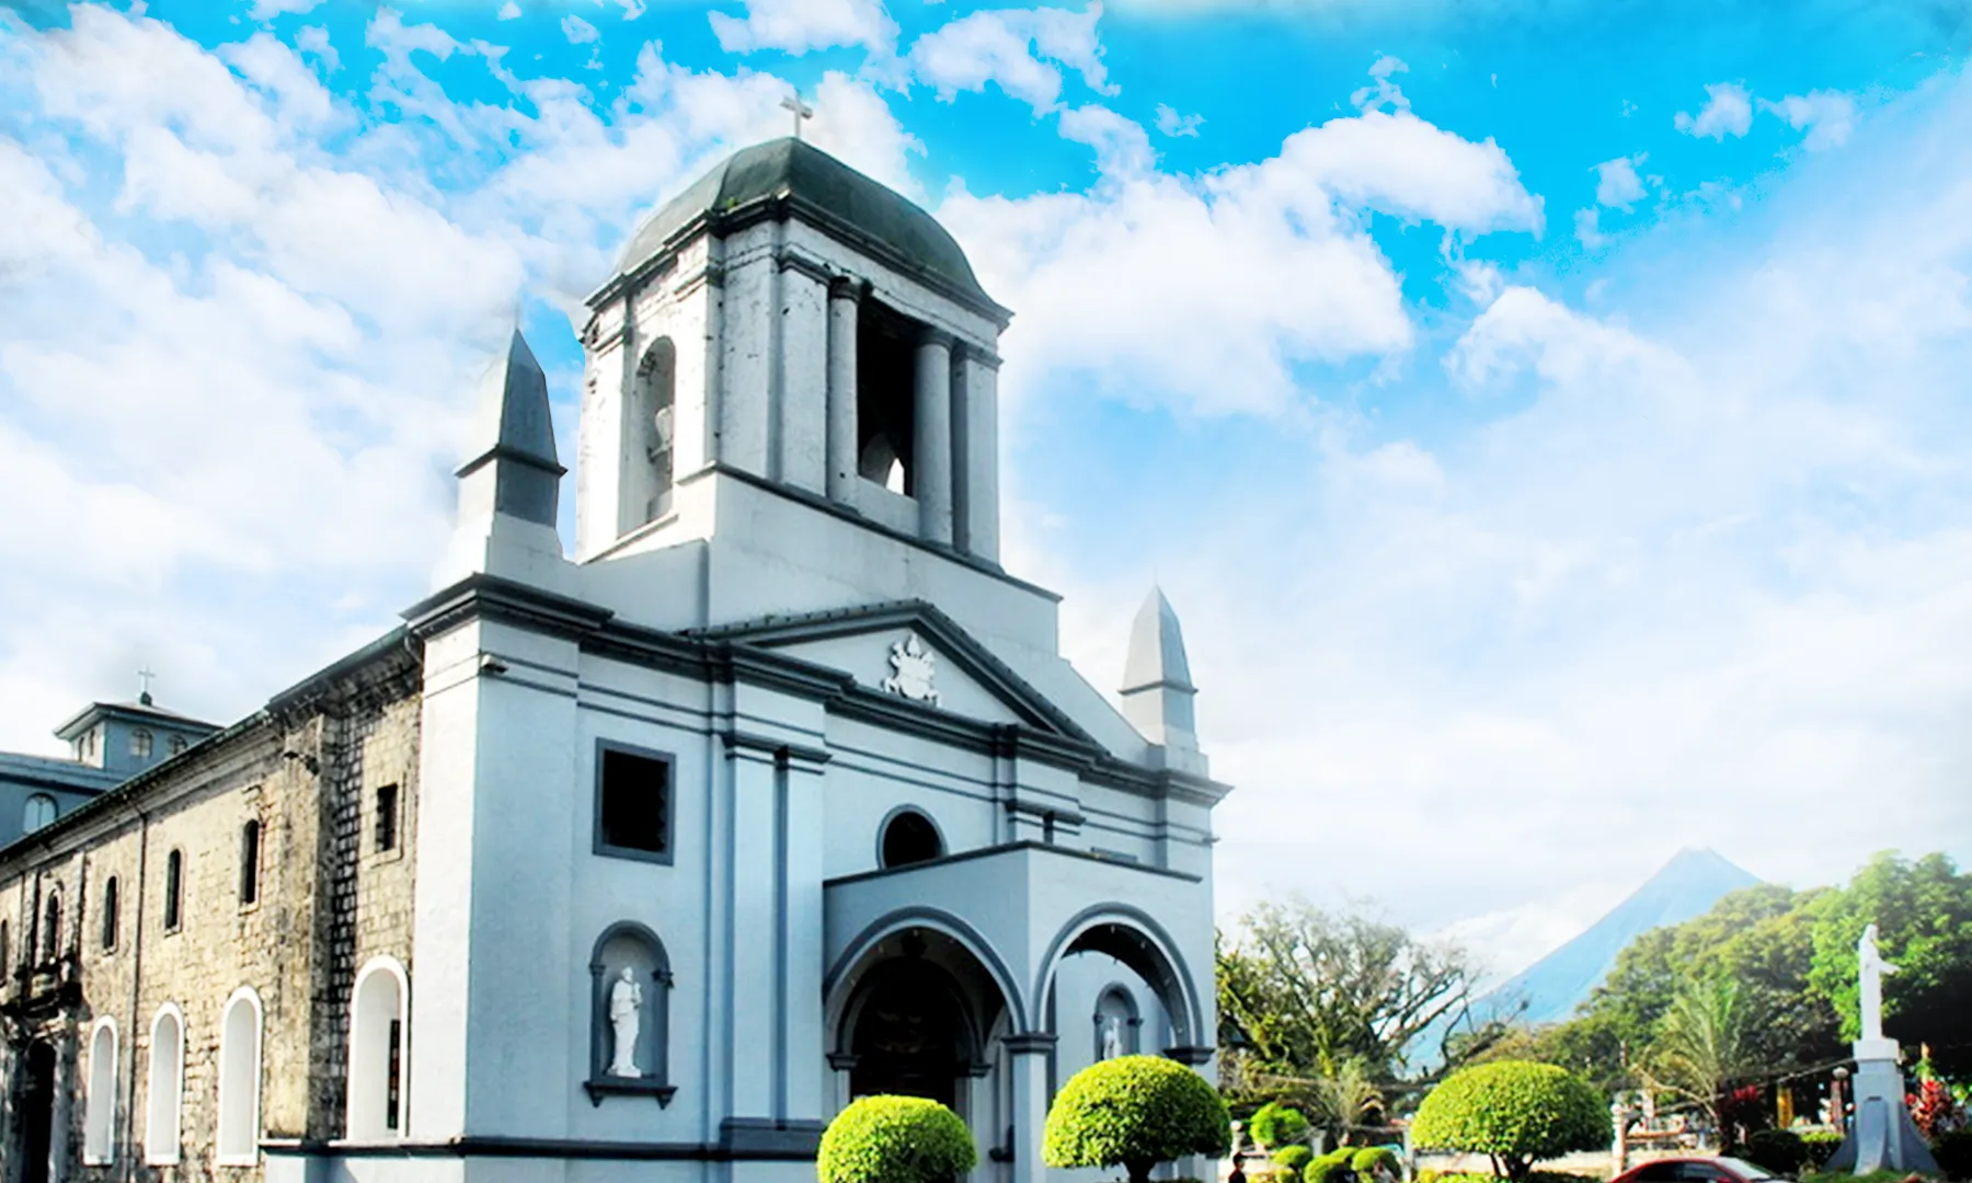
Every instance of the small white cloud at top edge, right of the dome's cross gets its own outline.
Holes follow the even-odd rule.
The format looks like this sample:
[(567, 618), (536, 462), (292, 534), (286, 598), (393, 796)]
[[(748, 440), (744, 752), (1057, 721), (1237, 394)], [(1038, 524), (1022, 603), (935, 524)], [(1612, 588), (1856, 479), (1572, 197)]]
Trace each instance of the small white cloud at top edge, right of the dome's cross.
[(1102, 67), (1096, 22), (1102, 6), (1091, 2), (1081, 12), (1067, 8), (1002, 8), (974, 12), (933, 30), (911, 43), (907, 55), (915, 77), (951, 101), (958, 91), (998, 85), (1008, 97), (1037, 112), (1061, 101), (1061, 69), (1079, 71), (1098, 95), (1114, 95)]

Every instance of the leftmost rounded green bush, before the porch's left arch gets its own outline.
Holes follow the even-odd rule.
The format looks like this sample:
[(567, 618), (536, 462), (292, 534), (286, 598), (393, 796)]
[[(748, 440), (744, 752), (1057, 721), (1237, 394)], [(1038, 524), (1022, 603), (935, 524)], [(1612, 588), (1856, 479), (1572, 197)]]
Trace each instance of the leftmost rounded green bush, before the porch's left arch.
[(864, 1096), (850, 1102), (814, 1159), (820, 1183), (943, 1183), (978, 1161), (958, 1114), (921, 1096)]

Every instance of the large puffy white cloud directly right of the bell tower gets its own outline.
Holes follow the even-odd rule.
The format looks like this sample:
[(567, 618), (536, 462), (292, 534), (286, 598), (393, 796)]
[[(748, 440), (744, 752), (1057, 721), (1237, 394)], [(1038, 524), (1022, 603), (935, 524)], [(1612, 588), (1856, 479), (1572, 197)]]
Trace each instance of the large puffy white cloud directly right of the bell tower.
[(1402, 292), (1361, 211), (1445, 231), (1540, 227), (1495, 144), (1371, 110), (1290, 136), (1274, 160), (1207, 177), (1148, 168), (1142, 128), (1079, 108), (1063, 134), (1108, 142), (1092, 193), (947, 197), (939, 215), (986, 286), (1020, 310), (1006, 383), (1075, 373), (1132, 402), (1290, 414), (1294, 369), (1412, 345)]

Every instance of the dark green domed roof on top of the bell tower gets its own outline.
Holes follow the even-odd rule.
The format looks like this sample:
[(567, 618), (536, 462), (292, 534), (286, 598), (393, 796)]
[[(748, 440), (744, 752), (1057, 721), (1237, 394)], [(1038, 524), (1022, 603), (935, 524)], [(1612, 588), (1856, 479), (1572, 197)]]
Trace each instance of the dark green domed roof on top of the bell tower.
[(714, 233), (724, 233), (755, 217), (769, 217), (783, 201), (858, 250), (947, 296), (1006, 317), (1006, 310), (980, 288), (966, 252), (935, 217), (793, 136), (734, 152), (670, 199), (631, 235), (617, 258), (617, 274), (637, 270), (700, 221), (710, 223)]

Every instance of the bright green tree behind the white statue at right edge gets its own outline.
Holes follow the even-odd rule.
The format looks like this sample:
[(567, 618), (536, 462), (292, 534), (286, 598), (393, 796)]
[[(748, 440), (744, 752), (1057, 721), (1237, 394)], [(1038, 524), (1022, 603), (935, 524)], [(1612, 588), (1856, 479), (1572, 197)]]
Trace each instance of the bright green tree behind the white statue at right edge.
[[(1877, 946), (1897, 966), (1883, 980), (1883, 1033), (1940, 1049), (1938, 1069), (1972, 1069), (1972, 873), (1942, 854), (1917, 862), (1879, 854), (1816, 909), (1808, 980), (1858, 1033), (1856, 939), (1879, 927)], [(1942, 1051), (1952, 1049), (1952, 1051)]]

